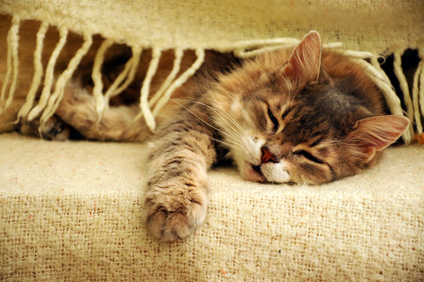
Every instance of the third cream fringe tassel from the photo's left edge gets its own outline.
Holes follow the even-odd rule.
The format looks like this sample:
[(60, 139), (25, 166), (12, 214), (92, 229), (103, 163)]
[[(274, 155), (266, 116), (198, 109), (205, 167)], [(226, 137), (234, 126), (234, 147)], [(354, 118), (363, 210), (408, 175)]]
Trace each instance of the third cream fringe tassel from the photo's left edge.
[(65, 27), (59, 28), (59, 42), (57, 42), (56, 47), (51, 53), (50, 59), (47, 63), (45, 78), (44, 78), (44, 87), (41, 92), (40, 100), (38, 104), (29, 112), (28, 120), (33, 120), (38, 114), (44, 109), (47, 104), (47, 99), (50, 96), (51, 85), (53, 84), (54, 78), (54, 65), (56, 64), (57, 57), (60, 54), (60, 51), (65, 45), (66, 36), (68, 35), (68, 30)]

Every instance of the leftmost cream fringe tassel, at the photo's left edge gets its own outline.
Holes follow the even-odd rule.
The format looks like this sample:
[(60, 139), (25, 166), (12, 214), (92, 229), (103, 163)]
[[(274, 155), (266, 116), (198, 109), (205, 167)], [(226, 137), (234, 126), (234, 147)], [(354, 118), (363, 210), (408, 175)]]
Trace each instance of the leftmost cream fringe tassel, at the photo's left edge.
[[(19, 24), (20, 19), (18, 16), (14, 15), (12, 17), (12, 25), (10, 26), (9, 32), (7, 34), (7, 71), (4, 78), (3, 86), (1, 87), (1, 94), (0, 94), (0, 102), (4, 100), (4, 96), (6, 93), (7, 85), (9, 84), (9, 78), (10, 74), (12, 72), (13, 67), (13, 77), (12, 77), (12, 83), (10, 84), (9, 89), (9, 96), (7, 97), (6, 103), (4, 105), (4, 108), (7, 108), (12, 100), (13, 100), (13, 94), (16, 87), (16, 80), (17, 80), (17, 73), (18, 73), (18, 56), (17, 56), (17, 48), (19, 46)], [(13, 62), (13, 65), (12, 65)], [(1, 113), (1, 108), (0, 108)]]

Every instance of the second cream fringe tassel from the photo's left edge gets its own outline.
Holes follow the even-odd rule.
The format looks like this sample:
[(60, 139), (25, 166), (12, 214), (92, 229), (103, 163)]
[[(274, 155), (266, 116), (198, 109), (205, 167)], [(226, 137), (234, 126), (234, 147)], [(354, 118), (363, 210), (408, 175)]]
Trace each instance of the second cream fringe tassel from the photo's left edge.
[(17, 121), (19, 121), (21, 117), (26, 116), (29, 110), (31, 110), (32, 105), (34, 104), (35, 94), (41, 83), (41, 77), (43, 76), (43, 65), (41, 63), (41, 53), (43, 49), (43, 40), (45, 37), (45, 33), (47, 32), (47, 28), (48, 28), (47, 21), (43, 21), (37, 32), (37, 42), (36, 42), (35, 51), (34, 51), (34, 76), (32, 77), (32, 83), (29, 88), (28, 94), (26, 95), (25, 103), (23, 103), (22, 107), (20, 107), (19, 112), (17, 113)]

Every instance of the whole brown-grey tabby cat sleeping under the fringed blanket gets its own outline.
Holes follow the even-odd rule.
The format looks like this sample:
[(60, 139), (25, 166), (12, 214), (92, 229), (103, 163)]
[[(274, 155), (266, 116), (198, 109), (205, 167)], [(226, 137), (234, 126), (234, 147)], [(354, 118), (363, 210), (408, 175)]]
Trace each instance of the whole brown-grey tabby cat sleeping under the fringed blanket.
[[(92, 96), (75, 85), (56, 111), (65, 123), (88, 138), (147, 138), (146, 125), (133, 121), (137, 106), (109, 107), (97, 123)], [(264, 53), (214, 79), (200, 75), (178, 91), (151, 139), (143, 209), (149, 233), (163, 241), (188, 237), (204, 221), (207, 172), (223, 158), (250, 181), (325, 183), (364, 170), (409, 125), (385, 115), (362, 67), (323, 50), (315, 31), (294, 49)], [(67, 130), (57, 117), (46, 134)]]

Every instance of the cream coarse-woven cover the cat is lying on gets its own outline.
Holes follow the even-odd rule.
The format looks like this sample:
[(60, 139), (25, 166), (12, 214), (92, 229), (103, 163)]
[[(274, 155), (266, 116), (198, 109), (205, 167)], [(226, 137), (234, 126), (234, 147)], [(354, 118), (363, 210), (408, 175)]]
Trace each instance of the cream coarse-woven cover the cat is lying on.
[(160, 244), (141, 219), (140, 144), (0, 135), (5, 281), (422, 281), (424, 150), (389, 148), (320, 186), (210, 172), (205, 224)]

